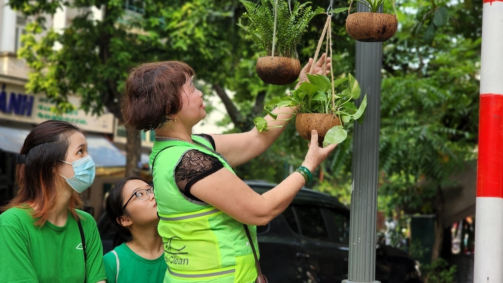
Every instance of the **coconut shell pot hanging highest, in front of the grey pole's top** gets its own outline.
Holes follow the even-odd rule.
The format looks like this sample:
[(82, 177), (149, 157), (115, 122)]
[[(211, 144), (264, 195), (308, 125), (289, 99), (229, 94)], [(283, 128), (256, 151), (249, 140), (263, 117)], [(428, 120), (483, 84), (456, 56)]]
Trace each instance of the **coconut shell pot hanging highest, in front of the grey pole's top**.
[(346, 30), (355, 40), (380, 42), (390, 39), (396, 32), (398, 21), (395, 15), (360, 12), (346, 19)]

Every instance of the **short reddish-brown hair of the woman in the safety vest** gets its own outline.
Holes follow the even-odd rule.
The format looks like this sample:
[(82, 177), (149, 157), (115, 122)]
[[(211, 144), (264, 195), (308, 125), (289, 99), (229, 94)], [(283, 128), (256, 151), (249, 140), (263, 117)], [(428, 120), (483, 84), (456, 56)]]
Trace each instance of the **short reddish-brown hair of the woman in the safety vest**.
[(180, 61), (145, 63), (133, 68), (122, 98), (124, 124), (144, 131), (161, 127), (169, 115), (182, 108), (180, 94), (187, 76), (194, 76), (194, 70)]

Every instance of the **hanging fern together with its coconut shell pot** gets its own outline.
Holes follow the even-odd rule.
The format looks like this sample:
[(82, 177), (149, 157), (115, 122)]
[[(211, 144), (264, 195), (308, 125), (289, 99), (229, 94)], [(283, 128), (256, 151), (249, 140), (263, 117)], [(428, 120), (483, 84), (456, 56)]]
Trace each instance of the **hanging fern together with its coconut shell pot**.
[[(267, 56), (257, 60), (259, 78), (273, 85), (288, 85), (300, 75), (297, 43), (316, 15), (324, 13), (307, 6), (310, 2), (296, 3), (290, 11), (288, 4), (278, 0), (263, 0), (261, 5), (240, 0), (246, 11), (239, 18), (238, 26), (247, 32), (245, 38), (254, 41), (266, 51)], [(247, 19), (244, 24), (243, 19)], [(292, 21), (293, 19), (293, 21)]]

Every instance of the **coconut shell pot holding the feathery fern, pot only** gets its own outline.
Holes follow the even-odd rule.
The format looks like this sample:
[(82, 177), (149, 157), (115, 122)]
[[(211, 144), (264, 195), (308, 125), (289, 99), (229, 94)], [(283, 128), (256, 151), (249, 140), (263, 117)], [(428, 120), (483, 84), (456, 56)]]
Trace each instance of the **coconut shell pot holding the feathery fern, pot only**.
[(264, 56), (257, 60), (257, 74), (272, 85), (288, 85), (300, 75), (300, 61), (281, 56)]

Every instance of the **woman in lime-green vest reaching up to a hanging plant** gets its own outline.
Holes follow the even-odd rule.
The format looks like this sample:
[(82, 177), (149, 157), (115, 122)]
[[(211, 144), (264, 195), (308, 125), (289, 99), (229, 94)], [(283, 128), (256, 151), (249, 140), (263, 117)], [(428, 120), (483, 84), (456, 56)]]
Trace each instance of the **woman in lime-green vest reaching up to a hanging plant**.
[[(325, 60), (330, 69), (323, 54), (315, 74), (326, 72)], [(312, 61), (301, 70), (299, 84), (307, 81)], [(206, 111), (193, 76), (194, 70), (179, 61), (142, 64), (128, 76), (122, 102), (127, 127), (155, 131), (150, 165), (167, 263), (164, 282), (253, 282), (258, 274), (256, 225), (267, 224), (289, 205), (335, 145), (319, 148), (313, 131), (302, 166), (260, 195), (232, 168), (263, 153), (284, 127), (194, 135), (192, 127)], [(294, 110), (273, 112), (282, 114), (278, 120), (267, 115), (270, 126), (281, 125)]]

